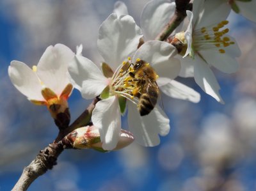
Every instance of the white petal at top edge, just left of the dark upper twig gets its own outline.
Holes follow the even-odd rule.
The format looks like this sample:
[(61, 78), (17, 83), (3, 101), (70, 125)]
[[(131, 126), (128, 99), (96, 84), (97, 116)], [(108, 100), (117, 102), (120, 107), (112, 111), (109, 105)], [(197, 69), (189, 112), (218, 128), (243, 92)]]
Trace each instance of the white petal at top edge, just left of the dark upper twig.
[(175, 8), (175, 3), (167, 0), (153, 0), (145, 5), (140, 20), (145, 40), (154, 40), (163, 31), (174, 15)]

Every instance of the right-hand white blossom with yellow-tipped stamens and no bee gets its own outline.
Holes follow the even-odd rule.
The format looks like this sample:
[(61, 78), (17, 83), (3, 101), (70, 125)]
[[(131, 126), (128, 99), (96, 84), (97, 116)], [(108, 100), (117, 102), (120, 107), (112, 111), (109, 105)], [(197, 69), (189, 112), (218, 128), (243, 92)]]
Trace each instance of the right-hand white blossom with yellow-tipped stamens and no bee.
[(227, 13), (221, 11), (223, 8), (215, 11), (214, 5), (215, 1), (195, 1), (193, 12), (187, 11), (188, 29), (184, 34), (176, 34), (176, 37), (188, 46), (181, 60), (183, 75), (193, 75), (205, 93), (223, 103), (219, 93), (220, 85), (211, 66), (221, 72), (234, 73), (239, 68), (235, 57), (240, 56), (241, 51), (236, 40), (227, 35)]

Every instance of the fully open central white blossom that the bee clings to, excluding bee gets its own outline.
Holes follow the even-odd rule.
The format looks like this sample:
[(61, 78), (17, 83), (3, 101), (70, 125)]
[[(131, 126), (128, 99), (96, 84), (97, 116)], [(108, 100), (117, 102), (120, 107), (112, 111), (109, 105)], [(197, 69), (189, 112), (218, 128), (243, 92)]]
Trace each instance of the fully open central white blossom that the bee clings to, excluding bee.
[(76, 55), (68, 66), (74, 87), (81, 91), (83, 98), (100, 95), (102, 99), (93, 110), (92, 122), (99, 128), (105, 150), (116, 147), (126, 105), (129, 129), (142, 146), (156, 146), (159, 135), (167, 135), (170, 130), (170, 120), (158, 106), (147, 116), (140, 116), (134, 104), (136, 98), (129, 94), (131, 87), (125, 85), (131, 70), (129, 66), (138, 58), (147, 61), (159, 75), (160, 89), (180, 71), (179, 60), (173, 58), (177, 54), (175, 47), (166, 42), (148, 41), (138, 49), (141, 36), (141, 29), (131, 16), (112, 13), (99, 28), (98, 49), (104, 58), (102, 71), (81, 55)]

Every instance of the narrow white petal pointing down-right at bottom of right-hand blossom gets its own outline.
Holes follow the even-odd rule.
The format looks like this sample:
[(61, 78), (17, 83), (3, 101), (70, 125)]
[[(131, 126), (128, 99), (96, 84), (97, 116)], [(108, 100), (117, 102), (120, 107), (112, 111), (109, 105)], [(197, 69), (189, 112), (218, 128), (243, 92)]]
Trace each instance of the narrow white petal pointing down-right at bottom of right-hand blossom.
[(211, 95), (218, 102), (224, 103), (219, 93), (220, 85), (218, 84), (214, 73), (209, 65), (198, 57), (197, 54), (195, 55), (194, 75), (196, 84), (198, 84), (205, 93)]

